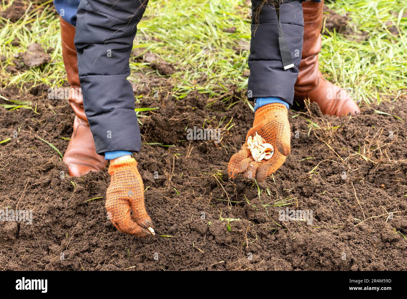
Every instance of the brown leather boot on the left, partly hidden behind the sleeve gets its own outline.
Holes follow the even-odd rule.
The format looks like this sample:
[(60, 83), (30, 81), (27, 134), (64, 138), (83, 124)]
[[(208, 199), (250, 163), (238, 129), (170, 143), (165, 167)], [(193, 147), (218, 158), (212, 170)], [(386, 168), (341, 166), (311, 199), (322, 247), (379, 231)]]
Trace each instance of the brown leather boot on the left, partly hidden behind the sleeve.
[(95, 142), (83, 109), (82, 93), (78, 77), (77, 52), (74, 45), (75, 27), (61, 17), (62, 58), (71, 85), (69, 104), (76, 116), (74, 130), (62, 161), (68, 165), (70, 176), (83, 176), (89, 171), (105, 169), (107, 161), (96, 153)]

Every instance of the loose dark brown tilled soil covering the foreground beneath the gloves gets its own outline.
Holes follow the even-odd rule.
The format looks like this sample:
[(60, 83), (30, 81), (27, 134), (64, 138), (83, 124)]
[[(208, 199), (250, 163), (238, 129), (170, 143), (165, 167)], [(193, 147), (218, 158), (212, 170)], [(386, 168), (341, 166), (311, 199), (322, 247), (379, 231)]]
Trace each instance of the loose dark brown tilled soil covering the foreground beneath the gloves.
[[(0, 145), (0, 210), (33, 211), (31, 225), (0, 222), (1, 269), (407, 270), (407, 129), (374, 113), (407, 120), (405, 98), (350, 118), (322, 116), (315, 105), (290, 111), (291, 154), (258, 193), (254, 182), (230, 181), (226, 172), (252, 111), (242, 101), (207, 106), (199, 93), (173, 100), (165, 80), (151, 78), (155, 87), (141, 90), (159, 86), (160, 97), (149, 92), (139, 104), (160, 107), (141, 118), (142, 140), (175, 145), (144, 145), (136, 154), (157, 233), (147, 239), (121, 234), (107, 219), (106, 170), (68, 177), (59, 155), (37, 138), (63, 154), (68, 140), (61, 137), (71, 136), (74, 117), (68, 103), (48, 100), (46, 87), (1, 91), (37, 104), (39, 113), (0, 108), (0, 141), (11, 138)], [(224, 128), (232, 117), (220, 143), (186, 140), (187, 127), (223, 120)], [(103, 198), (89, 201), (95, 197)], [(276, 206), (286, 198), (292, 204)], [(312, 224), (280, 221), (287, 207), (312, 210)]]

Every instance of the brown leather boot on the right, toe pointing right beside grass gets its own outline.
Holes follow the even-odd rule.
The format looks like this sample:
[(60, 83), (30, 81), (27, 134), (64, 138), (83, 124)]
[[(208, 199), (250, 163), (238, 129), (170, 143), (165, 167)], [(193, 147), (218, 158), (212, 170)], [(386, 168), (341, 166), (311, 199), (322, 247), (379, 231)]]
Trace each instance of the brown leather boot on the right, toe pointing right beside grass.
[(302, 2), (304, 13), (304, 44), (297, 82), (294, 86), (294, 99), (309, 98), (316, 102), (322, 113), (344, 116), (358, 114), (359, 107), (346, 90), (325, 80), (318, 69), (318, 53), (321, 50), (321, 29), (324, 1), (319, 3)]

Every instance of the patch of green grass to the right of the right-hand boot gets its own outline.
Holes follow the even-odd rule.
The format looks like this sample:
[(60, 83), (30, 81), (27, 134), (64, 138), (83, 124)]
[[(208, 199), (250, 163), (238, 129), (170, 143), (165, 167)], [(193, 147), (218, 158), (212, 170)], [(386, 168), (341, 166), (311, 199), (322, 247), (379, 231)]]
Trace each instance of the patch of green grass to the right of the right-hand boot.
[[(355, 98), (365, 103), (380, 104), (383, 95), (405, 93), (407, 2), (338, 0), (329, 7), (346, 12), (352, 28), (367, 32), (368, 38), (351, 41), (335, 32), (323, 37), (319, 65), (326, 78), (357, 89)], [(398, 28), (399, 37), (389, 32), (391, 26)]]

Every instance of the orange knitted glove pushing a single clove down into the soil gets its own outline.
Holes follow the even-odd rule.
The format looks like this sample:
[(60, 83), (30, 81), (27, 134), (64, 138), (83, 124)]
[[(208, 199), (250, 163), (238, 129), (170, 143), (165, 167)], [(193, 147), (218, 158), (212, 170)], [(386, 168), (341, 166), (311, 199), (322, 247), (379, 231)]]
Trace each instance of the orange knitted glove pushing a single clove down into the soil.
[(109, 174), (112, 177), (106, 191), (106, 209), (114, 226), (126, 234), (151, 235), (147, 228), (152, 226), (152, 221), (144, 207), (144, 186), (136, 160), (111, 163)]

